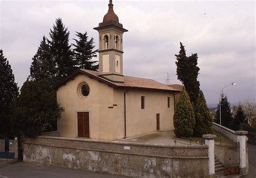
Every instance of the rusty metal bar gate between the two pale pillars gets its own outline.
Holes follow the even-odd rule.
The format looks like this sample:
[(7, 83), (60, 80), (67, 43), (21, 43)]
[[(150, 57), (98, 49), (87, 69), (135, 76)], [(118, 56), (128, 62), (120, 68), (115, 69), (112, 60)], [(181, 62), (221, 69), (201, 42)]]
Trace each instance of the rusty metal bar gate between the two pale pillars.
[(239, 174), (239, 143), (225, 139), (225, 175)]

